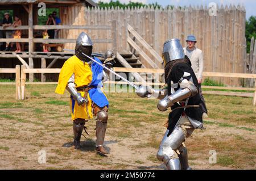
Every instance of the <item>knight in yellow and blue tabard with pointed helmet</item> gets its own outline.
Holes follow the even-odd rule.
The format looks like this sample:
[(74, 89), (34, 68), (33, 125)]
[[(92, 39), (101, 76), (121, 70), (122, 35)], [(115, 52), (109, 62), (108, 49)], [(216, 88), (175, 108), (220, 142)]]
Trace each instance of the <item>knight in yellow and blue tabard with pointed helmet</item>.
[[(102, 90), (103, 68), (84, 56), (92, 56), (93, 43), (90, 37), (82, 32), (76, 40), (75, 55), (68, 58), (61, 68), (55, 92), (64, 94), (65, 89), (71, 94), (70, 109), (73, 121), (75, 149), (80, 149), (80, 139), (85, 122), (96, 118), (96, 150), (101, 154), (108, 151), (104, 148), (104, 138), (108, 123), (109, 102)], [(106, 73), (105, 73), (106, 74)], [(86, 132), (87, 133), (87, 132)]]

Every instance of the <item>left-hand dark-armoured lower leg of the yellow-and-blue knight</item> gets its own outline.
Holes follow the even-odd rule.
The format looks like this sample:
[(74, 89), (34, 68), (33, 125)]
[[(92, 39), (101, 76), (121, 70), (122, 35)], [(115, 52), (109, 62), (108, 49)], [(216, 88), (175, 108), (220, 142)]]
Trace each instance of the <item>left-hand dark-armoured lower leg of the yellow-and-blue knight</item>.
[(75, 119), (73, 121), (73, 132), (74, 132), (74, 142), (73, 145), (75, 149), (80, 149), (80, 139), (82, 135), (82, 129), (84, 129), (85, 120), (84, 119)]

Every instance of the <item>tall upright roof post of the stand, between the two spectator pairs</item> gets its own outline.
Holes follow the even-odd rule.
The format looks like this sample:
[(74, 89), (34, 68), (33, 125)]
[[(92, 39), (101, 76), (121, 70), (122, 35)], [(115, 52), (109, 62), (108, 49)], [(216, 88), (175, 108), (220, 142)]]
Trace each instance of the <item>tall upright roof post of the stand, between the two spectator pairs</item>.
[[(28, 4), (28, 64), (30, 66), (30, 69), (34, 68), (34, 62), (33, 58), (31, 57), (31, 53), (34, 48), (34, 43), (33, 43), (33, 4), (29, 3)], [(34, 74), (30, 73), (30, 82), (34, 82)]]

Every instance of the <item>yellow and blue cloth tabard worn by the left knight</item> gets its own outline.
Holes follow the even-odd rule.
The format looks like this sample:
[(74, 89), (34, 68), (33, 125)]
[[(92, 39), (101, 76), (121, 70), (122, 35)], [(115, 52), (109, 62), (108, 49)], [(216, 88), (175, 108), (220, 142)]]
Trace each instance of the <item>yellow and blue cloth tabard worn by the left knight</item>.
[[(101, 61), (98, 58), (93, 57), (97, 62)], [(88, 103), (84, 106), (79, 106), (72, 95), (70, 98), (70, 108), (72, 120), (77, 118), (81, 119), (92, 119), (92, 102), (97, 104), (99, 107), (105, 107), (109, 105), (106, 95), (102, 91), (101, 74), (103, 68), (96, 62), (89, 65), (87, 62), (82, 62), (76, 56), (72, 56), (65, 61), (63, 67), (60, 70), (59, 81), (55, 92), (57, 94), (64, 94), (69, 78), (72, 74), (75, 74), (75, 85), (76, 87), (92, 86), (89, 90), (87, 98)], [(79, 91), (82, 96), (85, 92)]]

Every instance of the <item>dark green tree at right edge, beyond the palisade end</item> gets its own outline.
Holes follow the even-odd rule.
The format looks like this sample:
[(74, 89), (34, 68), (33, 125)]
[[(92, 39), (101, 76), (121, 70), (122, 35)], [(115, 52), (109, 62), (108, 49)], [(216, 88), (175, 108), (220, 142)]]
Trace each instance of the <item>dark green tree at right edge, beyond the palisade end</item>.
[(247, 53), (250, 52), (251, 37), (256, 38), (256, 16), (250, 16), (249, 20), (246, 20), (245, 37), (247, 45)]

